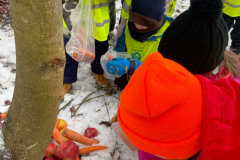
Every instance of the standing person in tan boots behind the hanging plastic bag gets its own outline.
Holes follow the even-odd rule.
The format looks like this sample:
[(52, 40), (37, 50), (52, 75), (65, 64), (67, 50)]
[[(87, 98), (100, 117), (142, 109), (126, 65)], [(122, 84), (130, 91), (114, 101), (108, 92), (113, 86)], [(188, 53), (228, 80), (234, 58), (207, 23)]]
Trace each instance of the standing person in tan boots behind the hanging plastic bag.
[[(101, 56), (108, 50), (108, 33), (110, 27), (109, 10), (108, 10), (108, 0), (99, 0), (97, 4), (92, 1), (92, 13), (93, 18), (96, 21), (95, 34), (95, 59), (91, 63), (91, 69), (94, 78), (96, 79), (99, 86), (109, 86), (109, 81), (103, 76), (103, 69), (100, 64)], [(64, 34), (64, 46), (66, 46), (69, 38), (71, 36), (71, 10), (74, 10), (77, 1), (76, 0), (62, 0), (63, 3), (63, 34)], [(66, 51), (66, 64), (64, 70), (64, 80), (63, 80), (63, 92), (62, 99), (64, 95), (71, 89), (72, 83), (77, 81), (77, 70), (78, 62), (75, 61), (71, 56), (69, 56)]]

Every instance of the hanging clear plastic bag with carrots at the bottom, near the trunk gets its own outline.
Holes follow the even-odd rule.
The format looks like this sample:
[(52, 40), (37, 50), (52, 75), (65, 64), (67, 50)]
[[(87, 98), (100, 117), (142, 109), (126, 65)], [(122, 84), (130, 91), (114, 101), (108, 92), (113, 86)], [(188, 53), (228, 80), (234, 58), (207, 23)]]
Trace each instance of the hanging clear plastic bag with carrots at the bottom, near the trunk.
[(67, 53), (77, 62), (91, 63), (95, 58), (95, 21), (91, 1), (81, 0), (71, 14), (71, 38), (66, 45)]

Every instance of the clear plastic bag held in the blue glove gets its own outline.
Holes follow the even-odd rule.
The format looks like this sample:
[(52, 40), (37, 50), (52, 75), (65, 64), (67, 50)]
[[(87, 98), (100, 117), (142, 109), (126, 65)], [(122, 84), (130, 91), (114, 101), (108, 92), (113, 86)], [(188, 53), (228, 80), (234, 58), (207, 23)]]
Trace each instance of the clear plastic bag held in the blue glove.
[(111, 80), (115, 80), (115, 78), (119, 78), (120, 76), (117, 75), (117, 74), (110, 74), (108, 71), (107, 71), (107, 62), (112, 60), (112, 58), (130, 58), (131, 59), (131, 55), (127, 52), (116, 52), (115, 50), (108, 50), (104, 55), (102, 55), (101, 57), (101, 66), (104, 70), (104, 73), (103, 73), (103, 76), (107, 79), (111, 79)]

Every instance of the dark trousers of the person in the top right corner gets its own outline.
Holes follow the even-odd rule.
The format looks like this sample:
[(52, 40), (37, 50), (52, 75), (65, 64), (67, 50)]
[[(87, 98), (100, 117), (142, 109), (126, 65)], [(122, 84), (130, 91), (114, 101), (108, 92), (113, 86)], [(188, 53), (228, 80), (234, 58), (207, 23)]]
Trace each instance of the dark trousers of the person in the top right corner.
[(232, 39), (231, 48), (240, 49), (240, 17), (230, 17), (224, 13), (222, 17), (228, 26), (228, 31), (233, 28), (230, 33)]

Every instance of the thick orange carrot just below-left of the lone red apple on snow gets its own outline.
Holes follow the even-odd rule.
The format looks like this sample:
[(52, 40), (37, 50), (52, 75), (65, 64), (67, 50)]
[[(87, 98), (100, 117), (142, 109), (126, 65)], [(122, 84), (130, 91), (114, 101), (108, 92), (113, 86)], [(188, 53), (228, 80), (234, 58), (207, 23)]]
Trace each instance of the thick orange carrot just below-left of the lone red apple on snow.
[(85, 137), (73, 130), (67, 129), (67, 128), (62, 129), (61, 134), (69, 140), (73, 140), (73, 141), (76, 141), (78, 143), (82, 143), (85, 145), (92, 145), (94, 143), (98, 144), (98, 141), (91, 139), (91, 138), (87, 138), (87, 137)]

